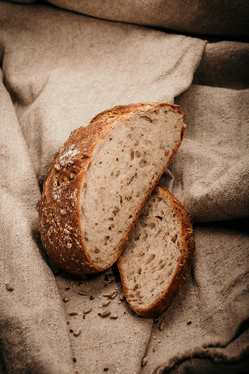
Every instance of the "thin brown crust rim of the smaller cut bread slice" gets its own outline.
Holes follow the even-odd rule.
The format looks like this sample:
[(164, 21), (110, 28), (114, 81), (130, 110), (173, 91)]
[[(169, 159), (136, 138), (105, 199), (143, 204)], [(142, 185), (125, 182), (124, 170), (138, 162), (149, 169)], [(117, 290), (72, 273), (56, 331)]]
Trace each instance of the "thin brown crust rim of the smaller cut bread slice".
[[(181, 238), (180, 238), (180, 247), (181, 255), (178, 261), (178, 266), (176, 268), (175, 274), (172, 278), (172, 281), (170, 282), (169, 286), (165, 290), (165, 292), (162, 294), (160, 299), (156, 301), (155, 304), (153, 304), (150, 308), (147, 309), (138, 309), (134, 304), (132, 303), (132, 300), (129, 301), (130, 306), (132, 309), (141, 317), (146, 318), (155, 318), (159, 316), (168, 305), (172, 303), (172, 301), (177, 296), (183, 282), (185, 281), (188, 272), (191, 268), (191, 264), (194, 260), (195, 255), (195, 241), (193, 237), (193, 223), (192, 219), (190, 218), (189, 214), (185, 210), (185, 208), (182, 206), (182, 204), (179, 202), (179, 200), (167, 189), (164, 187), (161, 187), (157, 185), (155, 187), (155, 190), (158, 192), (159, 196), (161, 198), (167, 199), (174, 211), (174, 214), (178, 218), (178, 224), (181, 227)], [(119, 260), (117, 261), (121, 281), (124, 288), (124, 294), (125, 298), (129, 300), (129, 294), (130, 289), (127, 287), (126, 284), (126, 277), (123, 273), (122, 266), (119, 263)], [(181, 265), (181, 266), (179, 266)]]

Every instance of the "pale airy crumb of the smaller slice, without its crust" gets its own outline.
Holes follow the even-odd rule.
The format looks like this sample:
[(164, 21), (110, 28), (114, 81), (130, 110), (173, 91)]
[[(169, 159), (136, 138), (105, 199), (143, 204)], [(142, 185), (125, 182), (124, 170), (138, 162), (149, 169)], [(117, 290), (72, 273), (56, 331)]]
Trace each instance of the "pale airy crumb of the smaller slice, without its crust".
[(181, 226), (168, 200), (154, 192), (142, 208), (119, 263), (135, 309), (148, 309), (167, 290), (180, 258)]

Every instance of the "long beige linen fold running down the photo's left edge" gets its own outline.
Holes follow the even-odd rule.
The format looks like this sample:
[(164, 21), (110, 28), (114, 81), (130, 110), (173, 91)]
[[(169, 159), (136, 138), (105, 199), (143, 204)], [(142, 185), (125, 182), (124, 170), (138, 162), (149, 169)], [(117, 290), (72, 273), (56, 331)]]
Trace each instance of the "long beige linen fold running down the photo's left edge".
[[(3, 373), (73, 373), (60, 294), (37, 244), (39, 188), (13, 104), (0, 87), (0, 351)], [(13, 290), (7, 290), (6, 283)]]

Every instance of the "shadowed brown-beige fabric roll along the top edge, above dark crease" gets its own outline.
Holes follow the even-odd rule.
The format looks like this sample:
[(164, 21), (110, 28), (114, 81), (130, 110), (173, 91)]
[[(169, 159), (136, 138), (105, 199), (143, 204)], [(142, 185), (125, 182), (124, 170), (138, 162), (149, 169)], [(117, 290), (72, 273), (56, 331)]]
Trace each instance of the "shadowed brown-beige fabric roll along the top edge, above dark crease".
[[(33, 2), (34, 0), (11, 0)], [(115, 21), (211, 35), (249, 35), (247, 0), (49, 0), (58, 7)]]

